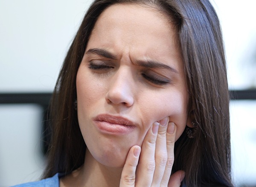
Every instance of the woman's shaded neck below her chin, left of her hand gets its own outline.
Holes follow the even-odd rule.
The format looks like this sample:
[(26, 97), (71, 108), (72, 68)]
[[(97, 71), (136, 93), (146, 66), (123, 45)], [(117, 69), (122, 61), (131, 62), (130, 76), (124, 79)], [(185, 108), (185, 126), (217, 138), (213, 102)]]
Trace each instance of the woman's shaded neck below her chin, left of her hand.
[(122, 168), (106, 167), (96, 161), (86, 150), (84, 164), (61, 180), (61, 186), (119, 187)]

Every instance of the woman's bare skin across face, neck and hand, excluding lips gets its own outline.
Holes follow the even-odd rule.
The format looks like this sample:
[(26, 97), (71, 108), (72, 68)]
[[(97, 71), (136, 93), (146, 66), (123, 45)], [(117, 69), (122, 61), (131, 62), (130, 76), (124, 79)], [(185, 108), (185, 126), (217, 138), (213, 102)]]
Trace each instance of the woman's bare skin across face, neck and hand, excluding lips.
[[(154, 8), (116, 4), (103, 11), (76, 77), (85, 167), (61, 178), (61, 186), (180, 185), (183, 172), (170, 178), (174, 142), (190, 119), (176, 37)], [(129, 119), (133, 129), (104, 133), (93, 121), (99, 114)]]

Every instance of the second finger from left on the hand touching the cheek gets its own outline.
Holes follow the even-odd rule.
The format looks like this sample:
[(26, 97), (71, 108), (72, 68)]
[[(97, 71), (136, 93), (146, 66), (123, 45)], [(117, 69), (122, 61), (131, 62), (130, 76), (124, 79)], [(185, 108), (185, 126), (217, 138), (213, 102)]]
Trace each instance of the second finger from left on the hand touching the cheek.
[(159, 123), (149, 128), (141, 147), (140, 162), (137, 167), (136, 185), (139, 187), (151, 186), (155, 170), (155, 147)]

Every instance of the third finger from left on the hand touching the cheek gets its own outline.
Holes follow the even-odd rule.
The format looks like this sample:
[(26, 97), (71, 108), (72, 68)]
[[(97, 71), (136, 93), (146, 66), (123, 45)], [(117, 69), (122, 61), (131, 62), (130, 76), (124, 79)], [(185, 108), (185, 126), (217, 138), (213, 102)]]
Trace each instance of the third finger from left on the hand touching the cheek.
[[(160, 120), (160, 126), (157, 133), (155, 162), (156, 167), (154, 171), (152, 186), (160, 186), (167, 161), (167, 148), (166, 148), (166, 131), (169, 122), (169, 117)], [(168, 183), (168, 181), (167, 181)], [(167, 186), (166, 183), (166, 186)]]

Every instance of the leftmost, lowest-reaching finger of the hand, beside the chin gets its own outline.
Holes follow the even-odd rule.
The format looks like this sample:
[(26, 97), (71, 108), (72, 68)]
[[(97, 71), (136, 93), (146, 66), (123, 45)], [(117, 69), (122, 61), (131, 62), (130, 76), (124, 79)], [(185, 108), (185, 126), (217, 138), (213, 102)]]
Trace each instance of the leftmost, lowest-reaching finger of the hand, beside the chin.
[(134, 145), (128, 152), (125, 165), (122, 170), (120, 187), (134, 187), (136, 167), (140, 157), (140, 146)]

